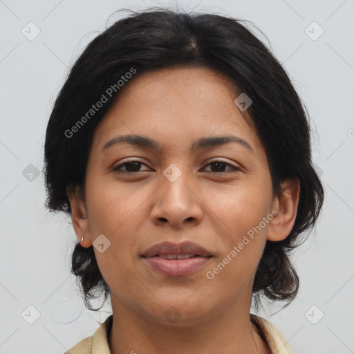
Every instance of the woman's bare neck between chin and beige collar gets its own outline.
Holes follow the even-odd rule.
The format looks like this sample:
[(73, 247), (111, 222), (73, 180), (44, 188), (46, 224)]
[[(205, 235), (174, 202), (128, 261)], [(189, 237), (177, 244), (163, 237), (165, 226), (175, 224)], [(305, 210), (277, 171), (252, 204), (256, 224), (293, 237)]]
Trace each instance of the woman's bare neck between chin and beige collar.
[(174, 324), (149, 320), (114, 297), (112, 308), (111, 354), (270, 353), (257, 327), (250, 321), (250, 306), (228, 307), (214, 317), (208, 316), (205, 321), (177, 321)]

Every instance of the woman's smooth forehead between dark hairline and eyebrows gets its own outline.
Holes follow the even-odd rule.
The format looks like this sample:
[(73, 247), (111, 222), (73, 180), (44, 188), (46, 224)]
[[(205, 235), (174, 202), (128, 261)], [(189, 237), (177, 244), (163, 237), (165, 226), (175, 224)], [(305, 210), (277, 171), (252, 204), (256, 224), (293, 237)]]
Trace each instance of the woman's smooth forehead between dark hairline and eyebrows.
[(166, 147), (189, 147), (201, 137), (234, 133), (262, 149), (234, 100), (239, 90), (209, 68), (168, 68), (134, 77), (100, 122), (97, 147), (118, 134), (141, 134)]

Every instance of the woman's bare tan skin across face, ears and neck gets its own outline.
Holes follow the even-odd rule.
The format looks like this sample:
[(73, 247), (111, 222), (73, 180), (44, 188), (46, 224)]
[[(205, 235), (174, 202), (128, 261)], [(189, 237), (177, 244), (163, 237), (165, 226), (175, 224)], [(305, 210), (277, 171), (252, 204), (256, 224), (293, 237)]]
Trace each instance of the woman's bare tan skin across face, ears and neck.
[[(111, 289), (111, 353), (270, 353), (250, 322), (254, 274), (265, 241), (281, 241), (295, 222), (299, 183), (284, 181), (274, 196), (268, 160), (254, 129), (234, 100), (226, 77), (208, 68), (145, 73), (124, 86), (93, 136), (85, 198), (68, 189), (77, 239), (90, 247), (104, 234), (111, 246), (95, 250)], [(102, 147), (121, 134), (157, 140), (160, 150), (126, 142)], [(230, 142), (191, 153), (202, 137), (233, 135)], [(138, 160), (142, 165), (123, 165)], [(230, 165), (215, 167), (214, 160)], [(181, 176), (163, 172), (175, 164)], [(213, 167), (214, 166), (214, 167)], [(125, 171), (125, 173), (124, 173)], [(129, 174), (127, 171), (137, 171)], [(243, 236), (276, 209), (278, 214), (209, 280), (205, 276)], [(161, 241), (193, 241), (214, 257), (184, 277), (151, 270), (140, 254)], [(176, 308), (170, 322), (165, 311)]]

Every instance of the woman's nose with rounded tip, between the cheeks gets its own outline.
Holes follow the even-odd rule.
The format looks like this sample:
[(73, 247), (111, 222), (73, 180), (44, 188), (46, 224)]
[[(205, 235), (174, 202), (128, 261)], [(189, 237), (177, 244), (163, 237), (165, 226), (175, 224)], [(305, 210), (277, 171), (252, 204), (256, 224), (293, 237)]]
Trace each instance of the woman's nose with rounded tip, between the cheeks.
[[(199, 193), (198, 193), (199, 192)], [(177, 180), (162, 176), (160, 187), (153, 194), (151, 220), (156, 225), (169, 223), (172, 227), (198, 225), (203, 218), (203, 202), (199, 188), (182, 172)]]

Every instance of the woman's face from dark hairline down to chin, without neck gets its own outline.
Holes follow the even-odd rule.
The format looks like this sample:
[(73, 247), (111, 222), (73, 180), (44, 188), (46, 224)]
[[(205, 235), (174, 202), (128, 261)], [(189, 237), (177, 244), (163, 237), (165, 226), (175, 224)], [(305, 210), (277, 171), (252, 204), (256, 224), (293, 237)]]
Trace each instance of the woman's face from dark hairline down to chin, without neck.
[[(84, 247), (95, 245), (113, 310), (176, 325), (240, 304), (249, 312), (267, 236), (287, 234), (272, 232), (278, 198), (261, 142), (234, 104), (238, 94), (207, 68), (145, 73), (126, 85), (94, 133), (86, 205), (82, 217), (73, 211)], [(115, 140), (127, 135), (153, 144)], [(196, 145), (224, 136), (235, 139)], [(166, 260), (166, 249), (142, 257), (162, 241), (191, 241), (211, 257)]]

